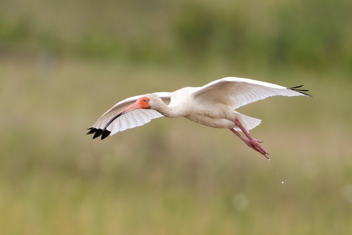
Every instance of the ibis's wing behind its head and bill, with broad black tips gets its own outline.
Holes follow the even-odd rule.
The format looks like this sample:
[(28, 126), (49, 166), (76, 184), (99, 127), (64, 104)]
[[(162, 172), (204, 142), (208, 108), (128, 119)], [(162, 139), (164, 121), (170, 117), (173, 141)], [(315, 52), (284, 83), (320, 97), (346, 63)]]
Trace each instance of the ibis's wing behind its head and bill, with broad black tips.
[[(166, 105), (170, 103), (170, 92), (156, 92), (153, 94), (158, 95), (158, 97), (160, 97)], [(150, 122), (151, 119), (164, 117), (164, 115), (152, 109), (136, 109), (116, 118), (106, 128), (106, 130), (103, 131), (103, 128), (109, 122), (109, 120), (111, 120), (122, 109), (136, 102), (136, 100), (141, 96), (142, 95), (130, 97), (115, 104), (111, 109), (104, 113), (103, 116), (101, 116), (91, 128), (89, 128), (90, 131), (87, 134), (95, 133), (93, 139), (102, 135), (101, 139), (104, 139), (109, 135), (115, 134), (116, 132), (144, 125), (145, 123)]]

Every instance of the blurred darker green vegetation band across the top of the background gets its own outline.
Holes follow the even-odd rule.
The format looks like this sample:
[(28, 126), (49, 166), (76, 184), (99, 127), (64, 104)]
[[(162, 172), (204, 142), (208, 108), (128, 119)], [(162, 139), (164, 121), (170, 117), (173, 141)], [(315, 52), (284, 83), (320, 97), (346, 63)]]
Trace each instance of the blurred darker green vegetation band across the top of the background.
[(151, 64), (218, 61), (240, 68), (351, 71), (348, 0), (1, 4), (0, 49), (5, 51)]

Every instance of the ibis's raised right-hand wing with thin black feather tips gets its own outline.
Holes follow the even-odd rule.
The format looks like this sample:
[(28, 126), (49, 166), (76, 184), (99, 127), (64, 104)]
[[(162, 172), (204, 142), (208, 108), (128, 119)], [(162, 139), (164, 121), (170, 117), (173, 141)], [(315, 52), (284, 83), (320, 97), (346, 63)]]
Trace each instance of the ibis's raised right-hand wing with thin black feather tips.
[(224, 103), (232, 109), (237, 109), (273, 95), (306, 95), (312, 97), (304, 93), (308, 90), (295, 89), (299, 87), (302, 86), (287, 88), (252, 79), (228, 77), (197, 87), (193, 94), (197, 99), (208, 98)]

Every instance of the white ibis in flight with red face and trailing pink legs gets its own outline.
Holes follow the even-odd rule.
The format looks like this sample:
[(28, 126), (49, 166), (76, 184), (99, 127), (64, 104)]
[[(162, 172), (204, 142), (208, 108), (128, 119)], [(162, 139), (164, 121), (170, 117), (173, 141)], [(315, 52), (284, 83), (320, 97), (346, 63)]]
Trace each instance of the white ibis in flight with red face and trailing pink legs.
[[(185, 117), (194, 122), (215, 128), (230, 129), (249, 147), (263, 154), (269, 154), (248, 131), (260, 124), (261, 120), (243, 115), (235, 109), (273, 95), (304, 95), (308, 90), (297, 87), (283, 87), (267, 82), (245, 78), (228, 77), (202, 87), (185, 87), (174, 92), (156, 92), (137, 95), (120, 101), (101, 116), (89, 128), (87, 134), (93, 139), (103, 140), (116, 132), (134, 128), (158, 117)], [(248, 140), (238, 131), (243, 131)]]

